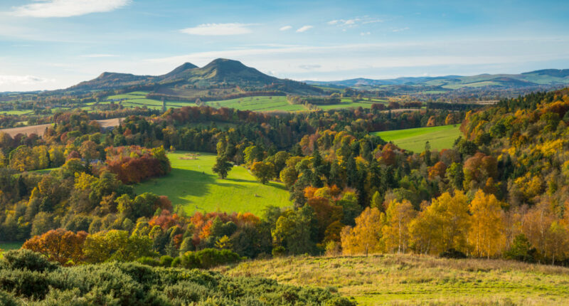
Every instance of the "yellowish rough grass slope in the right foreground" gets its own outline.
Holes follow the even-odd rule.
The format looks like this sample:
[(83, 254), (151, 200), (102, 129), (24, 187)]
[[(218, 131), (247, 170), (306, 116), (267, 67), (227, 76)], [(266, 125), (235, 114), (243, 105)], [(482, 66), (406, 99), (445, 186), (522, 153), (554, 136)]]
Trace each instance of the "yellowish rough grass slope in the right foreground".
[(218, 268), (231, 276), (336, 287), (358, 305), (569, 305), (569, 269), (420, 255), (291, 257)]

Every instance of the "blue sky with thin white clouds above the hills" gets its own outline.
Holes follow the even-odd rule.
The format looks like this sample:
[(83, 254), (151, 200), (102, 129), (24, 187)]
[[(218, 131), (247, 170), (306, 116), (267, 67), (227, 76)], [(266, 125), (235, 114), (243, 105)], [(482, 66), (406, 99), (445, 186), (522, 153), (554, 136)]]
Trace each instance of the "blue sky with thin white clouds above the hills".
[(569, 1), (0, 0), (0, 92), (240, 60), (345, 80), (569, 68)]

